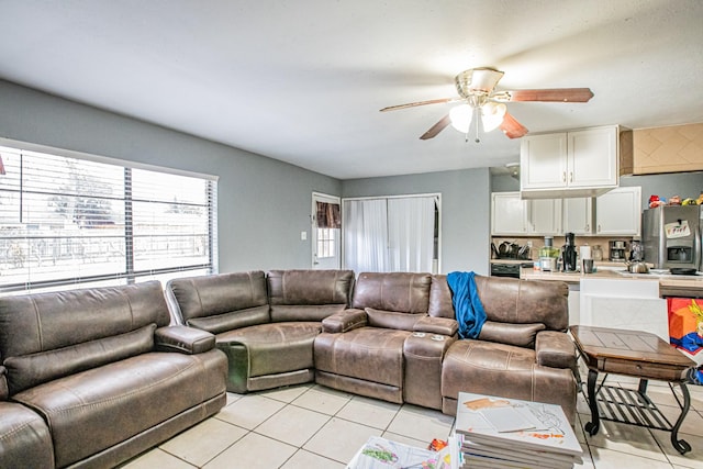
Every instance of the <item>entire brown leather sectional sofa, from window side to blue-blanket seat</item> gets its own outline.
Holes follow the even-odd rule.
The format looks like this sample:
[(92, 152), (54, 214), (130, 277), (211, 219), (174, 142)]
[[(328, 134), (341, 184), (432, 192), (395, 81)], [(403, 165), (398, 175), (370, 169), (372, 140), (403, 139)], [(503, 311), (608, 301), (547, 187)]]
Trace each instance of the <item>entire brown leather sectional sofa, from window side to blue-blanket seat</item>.
[(0, 467), (116, 466), (216, 413), (225, 387), (314, 381), (447, 414), (458, 391), (480, 392), (560, 404), (573, 422), (566, 283), (476, 284), (478, 339), (458, 339), (446, 277), (429, 273), (250, 271), (0, 298)]

